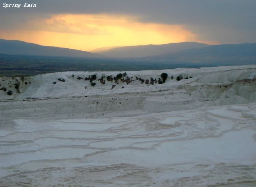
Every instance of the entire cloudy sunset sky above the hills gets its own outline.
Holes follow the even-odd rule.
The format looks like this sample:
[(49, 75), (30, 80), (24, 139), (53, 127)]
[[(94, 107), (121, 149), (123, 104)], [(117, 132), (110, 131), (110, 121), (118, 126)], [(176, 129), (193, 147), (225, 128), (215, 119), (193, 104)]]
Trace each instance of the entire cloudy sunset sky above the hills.
[[(0, 38), (83, 51), (256, 42), (255, 0), (0, 0)], [(36, 7), (24, 7), (24, 3)], [(5, 4), (11, 7), (4, 7)], [(21, 4), (12, 7), (13, 4)]]

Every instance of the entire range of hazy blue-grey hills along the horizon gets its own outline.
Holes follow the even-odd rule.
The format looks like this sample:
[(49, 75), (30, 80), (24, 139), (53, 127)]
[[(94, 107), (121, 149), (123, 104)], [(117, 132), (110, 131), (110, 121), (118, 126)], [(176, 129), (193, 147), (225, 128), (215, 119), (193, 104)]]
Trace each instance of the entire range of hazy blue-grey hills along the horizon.
[(68, 48), (41, 46), (19, 40), (0, 39), (0, 53), (12, 55), (94, 57), (104, 58), (106, 61), (116, 58), (120, 62), (186, 62), (217, 63), (219, 65), (223, 63), (226, 63), (226, 65), (256, 64), (256, 43), (210, 46), (197, 42), (182, 42), (110, 48), (94, 50), (98, 50), (98, 54)]

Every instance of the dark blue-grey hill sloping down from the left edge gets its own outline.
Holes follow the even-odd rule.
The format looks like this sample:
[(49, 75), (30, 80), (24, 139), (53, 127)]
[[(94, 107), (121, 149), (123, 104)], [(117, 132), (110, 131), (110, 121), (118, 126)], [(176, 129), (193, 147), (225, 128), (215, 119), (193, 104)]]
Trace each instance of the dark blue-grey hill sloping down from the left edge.
[(0, 53), (14, 55), (42, 55), (42, 56), (73, 56), (73, 57), (97, 57), (104, 55), (80, 51), (75, 49), (41, 46), (19, 40), (0, 39)]

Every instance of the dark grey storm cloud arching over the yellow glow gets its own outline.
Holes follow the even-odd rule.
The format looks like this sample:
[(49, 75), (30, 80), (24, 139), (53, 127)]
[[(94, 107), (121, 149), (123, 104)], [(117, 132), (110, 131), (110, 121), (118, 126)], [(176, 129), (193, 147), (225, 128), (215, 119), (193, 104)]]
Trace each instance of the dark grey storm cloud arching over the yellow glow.
[[(16, 1), (16, 2), (15, 2)], [(27, 0), (0, 0), (20, 3)], [(0, 27), (48, 14), (132, 14), (143, 22), (183, 24), (200, 38), (225, 43), (256, 42), (255, 0), (31, 0), (36, 8), (1, 7)], [(228, 36), (228, 33), (230, 35)], [(231, 37), (231, 38), (230, 38)], [(239, 39), (236, 37), (240, 37)]]

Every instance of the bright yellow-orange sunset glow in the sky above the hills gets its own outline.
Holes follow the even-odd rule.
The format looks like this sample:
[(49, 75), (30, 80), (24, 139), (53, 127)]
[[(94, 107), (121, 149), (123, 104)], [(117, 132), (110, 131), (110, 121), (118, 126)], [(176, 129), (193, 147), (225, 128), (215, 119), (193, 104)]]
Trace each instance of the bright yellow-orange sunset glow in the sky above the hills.
[(27, 21), (16, 30), (0, 30), (0, 38), (84, 51), (108, 46), (195, 41), (196, 34), (182, 25), (138, 20), (129, 15), (58, 14)]

